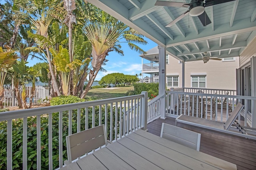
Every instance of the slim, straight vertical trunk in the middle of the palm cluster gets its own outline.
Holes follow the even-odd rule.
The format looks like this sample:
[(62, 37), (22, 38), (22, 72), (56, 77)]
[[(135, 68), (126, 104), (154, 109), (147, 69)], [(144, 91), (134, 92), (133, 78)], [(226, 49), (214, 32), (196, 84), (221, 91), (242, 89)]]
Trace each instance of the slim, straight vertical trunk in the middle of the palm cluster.
[[(73, 53), (72, 53), (72, 23), (71, 19), (68, 22), (68, 52), (69, 52), (69, 60), (70, 63), (73, 62)], [(69, 92), (71, 95), (74, 95), (74, 84), (73, 84), (73, 75), (74, 75), (74, 70), (70, 70), (70, 77), (69, 77)]]

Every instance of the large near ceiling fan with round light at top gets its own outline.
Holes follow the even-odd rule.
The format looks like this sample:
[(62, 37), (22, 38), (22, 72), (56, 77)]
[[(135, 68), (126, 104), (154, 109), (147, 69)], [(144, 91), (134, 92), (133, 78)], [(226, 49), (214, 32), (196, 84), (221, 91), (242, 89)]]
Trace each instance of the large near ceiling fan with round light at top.
[(171, 1), (156, 1), (155, 5), (156, 6), (173, 6), (173, 7), (184, 7), (188, 8), (186, 12), (181, 14), (178, 18), (170, 22), (166, 27), (171, 27), (174, 25), (176, 22), (180, 21), (182, 18), (184, 18), (186, 15), (190, 16), (197, 16), (201, 23), (206, 26), (211, 22), (209, 19), (208, 15), (204, 11), (204, 8), (207, 6), (212, 6), (212, 5), (217, 5), (217, 4), (222, 4), (225, 2), (230, 2), (234, 0), (191, 0), (190, 3), (183, 3), (183, 2), (171, 2)]

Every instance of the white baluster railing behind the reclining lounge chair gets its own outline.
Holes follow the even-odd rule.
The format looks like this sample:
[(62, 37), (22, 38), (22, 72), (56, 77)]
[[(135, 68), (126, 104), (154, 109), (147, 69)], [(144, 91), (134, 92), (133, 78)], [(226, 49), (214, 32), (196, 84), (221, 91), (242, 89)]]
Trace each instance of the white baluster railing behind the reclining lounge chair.
[[(244, 117), (244, 121), (241, 123), (241, 117), (238, 116), (238, 123), (252, 127), (250, 104), (254, 103), (255, 97), (174, 91), (166, 91), (166, 93), (166, 116), (178, 117), (178, 115), (185, 114), (210, 120), (226, 121), (229, 113), (236, 106), (236, 102), (232, 101), (238, 101), (244, 104), (244, 110), (240, 113)], [(216, 104), (214, 105), (214, 103)]]

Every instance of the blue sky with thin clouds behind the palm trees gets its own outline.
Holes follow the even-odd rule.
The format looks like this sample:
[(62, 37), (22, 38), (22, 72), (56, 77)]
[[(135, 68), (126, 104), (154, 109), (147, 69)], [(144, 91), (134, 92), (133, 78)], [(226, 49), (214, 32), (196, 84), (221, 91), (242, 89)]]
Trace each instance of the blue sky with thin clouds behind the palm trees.
[[(140, 48), (142, 48), (144, 51), (148, 51), (149, 49), (152, 49), (153, 47), (156, 47), (157, 44), (151, 41), (150, 39), (144, 37), (146, 41), (148, 41), (147, 45), (138, 45)], [(103, 76), (106, 76), (110, 73), (124, 73), (129, 75), (135, 75), (141, 73), (141, 57), (140, 54), (136, 51), (131, 50), (128, 47), (128, 43), (121, 43), (122, 50), (124, 51), (124, 56), (119, 55), (118, 53), (112, 51), (109, 53), (109, 55), (106, 57), (108, 62), (106, 63), (103, 68), (107, 70), (108, 72), (99, 72), (95, 78), (95, 80), (100, 80)], [(28, 66), (33, 66), (36, 63), (39, 63), (39, 60), (30, 58), (28, 59)], [(139, 76), (140, 78), (140, 76)]]

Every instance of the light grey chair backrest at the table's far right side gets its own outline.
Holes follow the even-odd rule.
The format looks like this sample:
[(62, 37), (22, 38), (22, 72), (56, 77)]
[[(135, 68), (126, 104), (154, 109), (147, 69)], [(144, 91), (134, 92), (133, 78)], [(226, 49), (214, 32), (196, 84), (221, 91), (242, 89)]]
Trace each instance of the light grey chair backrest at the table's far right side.
[(189, 131), (187, 129), (183, 129), (166, 123), (162, 123), (160, 137), (198, 151), (200, 148), (200, 133)]

